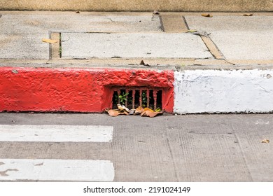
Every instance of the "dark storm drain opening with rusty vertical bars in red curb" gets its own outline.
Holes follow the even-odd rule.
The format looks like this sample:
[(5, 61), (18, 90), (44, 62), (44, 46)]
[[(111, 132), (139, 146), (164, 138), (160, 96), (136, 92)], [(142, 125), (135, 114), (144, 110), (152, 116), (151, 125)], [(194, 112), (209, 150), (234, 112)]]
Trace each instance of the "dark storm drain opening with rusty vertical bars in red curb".
[(128, 109), (136, 109), (139, 106), (150, 109), (162, 109), (162, 89), (157, 87), (113, 87), (113, 106), (125, 105)]

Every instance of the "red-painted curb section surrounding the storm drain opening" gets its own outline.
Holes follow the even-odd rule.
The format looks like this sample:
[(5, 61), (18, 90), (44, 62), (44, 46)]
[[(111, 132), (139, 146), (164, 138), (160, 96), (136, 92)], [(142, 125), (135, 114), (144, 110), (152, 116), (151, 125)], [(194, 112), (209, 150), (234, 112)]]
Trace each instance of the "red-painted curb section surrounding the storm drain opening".
[(173, 112), (173, 71), (30, 67), (0, 68), (0, 111), (102, 112), (113, 86), (162, 87), (162, 109)]

